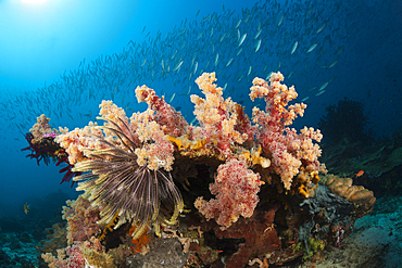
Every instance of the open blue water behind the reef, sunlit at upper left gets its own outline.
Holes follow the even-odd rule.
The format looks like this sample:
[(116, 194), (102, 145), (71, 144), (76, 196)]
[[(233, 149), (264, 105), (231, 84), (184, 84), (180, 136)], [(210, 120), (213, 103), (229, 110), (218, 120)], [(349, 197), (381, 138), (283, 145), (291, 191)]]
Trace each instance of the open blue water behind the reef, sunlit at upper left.
[(279, 71), (307, 104), (296, 128), (317, 127), (347, 97), (387, 137), (402, 126), (401, 48), (398, 0), (0, 0), (0, 217), (29, 216), (25, 202), (46, 214), (42, 200), (59, 191), (77, 196), (59, 167), (21, 152), (42, 113), (70, 130), (95, 120), (101, 100), (130, 115), (146, 109), (134, 91), (147, 85), (191, 122), (194, 79), (216, 72), (224, 95), (250, 115), (263, 105), (248, 98), (252, 79)]

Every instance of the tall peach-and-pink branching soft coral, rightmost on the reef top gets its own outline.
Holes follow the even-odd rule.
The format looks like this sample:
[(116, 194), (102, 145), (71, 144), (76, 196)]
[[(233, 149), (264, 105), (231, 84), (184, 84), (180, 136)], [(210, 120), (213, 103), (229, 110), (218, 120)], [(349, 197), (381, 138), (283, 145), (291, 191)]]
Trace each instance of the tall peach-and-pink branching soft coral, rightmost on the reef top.
[(290, 190), (293, 177), (300, 168), (306, 167), (307, 171), (322, 171), (325, 168), (319, 165), (317, 158), (321, 150), (313, 140), (321, 141), (319, 130), (304, 128), (300, 135), (296, 129), (290, 129), (294, 118), (303, 116), (306, 105), (296, 103), (288, 105), (298, 97), (294, 87), (288, 88), (280, 84), (284, 76), (274, 73), (269, 84), (261, 78), (253, 80), (250, 98), (264, 98), (265, 111), (253, 109), (253, 122), (259, 125), (255, 132), (256, 140), (263, 150), (272, 155), (272, 168), (281, 178), (286, 190)]

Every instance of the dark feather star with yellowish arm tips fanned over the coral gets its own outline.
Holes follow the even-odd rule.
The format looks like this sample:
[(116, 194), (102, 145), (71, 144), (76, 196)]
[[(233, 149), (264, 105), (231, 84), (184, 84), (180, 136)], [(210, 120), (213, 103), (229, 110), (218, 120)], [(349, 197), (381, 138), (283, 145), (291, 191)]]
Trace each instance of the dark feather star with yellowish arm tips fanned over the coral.
[(106, 122), (109, 125), (102, 129), (111, 131), (114, 139), (96, 137), (103, 149), (86, 150), (88, 159), (77, 163), (73, 169), (89, 171), (74, 178), (81, 181), (77, 190), (84, 190), (92, 205), (100, 208), (98, 224), (110, 224), (118, 215), (114, 228), (130, 222), (137, 227), (134, 239), (149, 225), (153, 225), (159, 234), (161, 225), (176, 222), (184, 208), (181, 195), (169, 173), (137, 164), (135, 150), (140, 142), (124, 120), (117, 118), (118, 125)]

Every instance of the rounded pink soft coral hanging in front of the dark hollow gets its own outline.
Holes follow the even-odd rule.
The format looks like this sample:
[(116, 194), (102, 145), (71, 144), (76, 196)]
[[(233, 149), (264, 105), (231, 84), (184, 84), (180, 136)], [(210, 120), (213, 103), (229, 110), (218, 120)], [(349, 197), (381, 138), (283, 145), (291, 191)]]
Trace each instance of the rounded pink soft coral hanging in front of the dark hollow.
[(206, 219), (215, 218), (225, 230), (236, 222), (240, 215), (249, 218), (259, 203), (260, 175), (247, 168), (242, 161), (233, 158), (217, 168), (215, 183), (210, 191), (216, 199), (204, 201), (198, 197), (194, 205)]

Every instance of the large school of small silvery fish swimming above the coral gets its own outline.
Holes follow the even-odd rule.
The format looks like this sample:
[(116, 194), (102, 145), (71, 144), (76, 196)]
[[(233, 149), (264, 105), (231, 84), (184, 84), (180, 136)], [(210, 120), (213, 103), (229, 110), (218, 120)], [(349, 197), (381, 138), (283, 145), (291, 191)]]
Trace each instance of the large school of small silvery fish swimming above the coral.
[(189, 94), (200, 93), (194, 80), (203, 72), (216, 72), (225, 97), (240, 103), (249, 101), (254, 77), (267, 79), (277, 71), (286, 84), (297, 84), (299, 101), (318, 98), (334, 90), (331, 80), (346, 53), (347, 34), (339, 25), (346, 9), (343, 1), (260, 1), (252, 9), (223, 5), (222, 12), (204, 17), (198, 11), (166, 35), (143, 27), (142, 42), (129, 41), (123, 52), (96, 61), (84, 59), (78, 68), (65, 71), (50, 85), (4, 97), (2, 128), (18, 139), (22, 136), (16, 133), (27, 132), (42, 113), (54, 127), (86, 124), (95, 120), (103, 99), (130, 114), (139, 110), (134, 90), (142, 85), (154, 88), (194, 122), (187, 112), (192, 106), (187, 106)]

